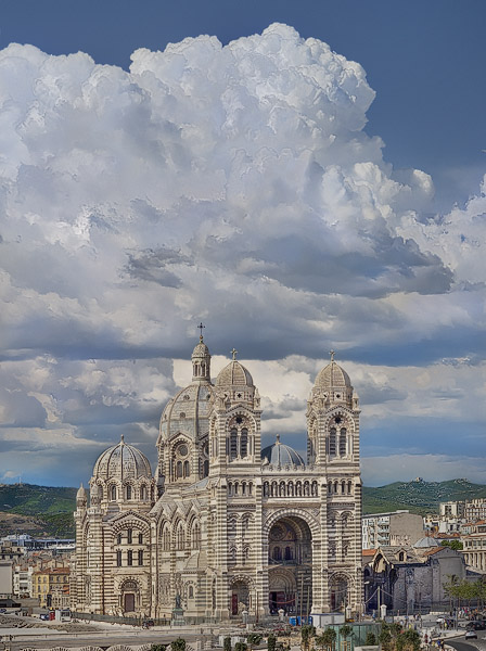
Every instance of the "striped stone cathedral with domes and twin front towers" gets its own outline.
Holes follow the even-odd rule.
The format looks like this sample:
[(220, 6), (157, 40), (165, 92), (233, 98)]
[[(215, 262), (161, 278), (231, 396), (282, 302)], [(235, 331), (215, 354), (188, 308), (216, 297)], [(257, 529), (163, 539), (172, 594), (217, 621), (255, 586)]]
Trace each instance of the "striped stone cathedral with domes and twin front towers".
[(251, 373), (233, 349), (213, 382), (200, 336), (154, 472), (122, 436), (89, 498), (78, 490), (73, 610), (188, 623), (360, 611), (359, 413), (331, 354), (307, 401), (306, 459), (279, 436), (261, 449)]

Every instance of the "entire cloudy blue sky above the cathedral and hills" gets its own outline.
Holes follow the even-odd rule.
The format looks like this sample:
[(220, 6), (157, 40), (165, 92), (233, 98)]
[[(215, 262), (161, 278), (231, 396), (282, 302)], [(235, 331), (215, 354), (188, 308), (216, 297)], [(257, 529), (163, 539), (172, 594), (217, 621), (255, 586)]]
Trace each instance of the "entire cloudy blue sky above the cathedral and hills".
[(263, 443), (329, 350), (366, 485), (486, 483), (481, 0), (0, 9), (0, 482), (154, 467), (197, 323)]

